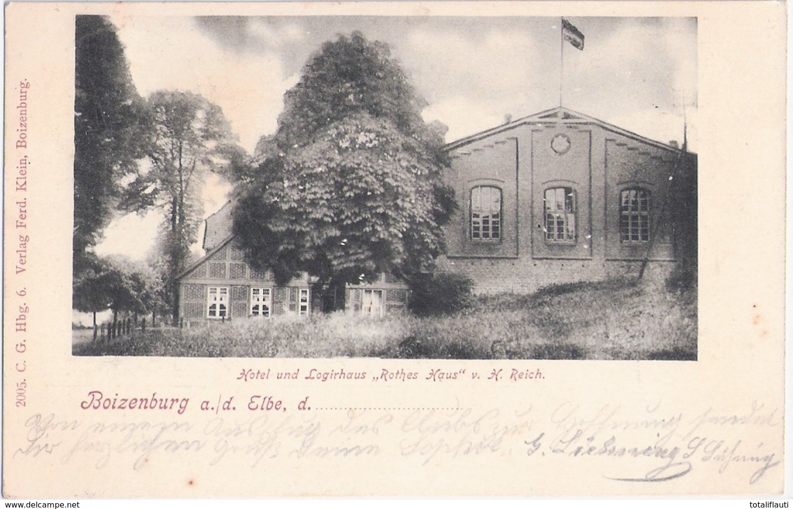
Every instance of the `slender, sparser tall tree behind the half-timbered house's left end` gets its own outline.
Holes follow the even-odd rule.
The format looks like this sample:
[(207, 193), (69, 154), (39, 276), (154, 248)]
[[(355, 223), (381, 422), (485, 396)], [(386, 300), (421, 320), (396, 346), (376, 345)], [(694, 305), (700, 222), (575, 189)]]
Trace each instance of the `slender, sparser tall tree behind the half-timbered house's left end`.
[(206, 175), (235, 171), (228, 168), (243, 156), (220, 106), (201, 95), (159, 90), (149, 96), (147, 106), (154, 129), (151, 168), (129, 184), (124, 207), (164, 211), (158, 245), (172, 285), (197, 239)]

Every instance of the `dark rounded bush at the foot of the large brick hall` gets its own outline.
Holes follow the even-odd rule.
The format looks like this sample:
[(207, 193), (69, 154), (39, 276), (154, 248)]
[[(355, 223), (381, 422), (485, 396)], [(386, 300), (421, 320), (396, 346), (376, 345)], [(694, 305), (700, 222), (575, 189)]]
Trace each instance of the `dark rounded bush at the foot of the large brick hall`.
[(427, 274), (411, 285), (410, 310), (419, 316), (462, 311), (473, 303), (473, 281), (462, 274)]

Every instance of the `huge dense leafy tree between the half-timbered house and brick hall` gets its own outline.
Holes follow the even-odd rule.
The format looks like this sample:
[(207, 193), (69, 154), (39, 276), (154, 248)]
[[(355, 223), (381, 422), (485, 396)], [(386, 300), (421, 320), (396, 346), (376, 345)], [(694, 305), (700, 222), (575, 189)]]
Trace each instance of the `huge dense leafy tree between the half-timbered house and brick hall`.
[(424, 104), (385, 44), (325, 43), (240, 193), (234, 229), (251, 264), (279, 283), (305, 270), (320, 290), (428, 270), (456, 205), (445, 128), (423, 121)]

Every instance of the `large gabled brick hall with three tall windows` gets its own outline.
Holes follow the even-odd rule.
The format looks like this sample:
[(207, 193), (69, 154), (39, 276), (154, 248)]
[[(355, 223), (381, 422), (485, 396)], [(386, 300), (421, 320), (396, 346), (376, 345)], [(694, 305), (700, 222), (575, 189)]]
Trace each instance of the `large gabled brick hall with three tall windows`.
[(528, 293), (695, 263), (696, 156), (565, 108), (448, 145), (460, 209), (439, 269)]

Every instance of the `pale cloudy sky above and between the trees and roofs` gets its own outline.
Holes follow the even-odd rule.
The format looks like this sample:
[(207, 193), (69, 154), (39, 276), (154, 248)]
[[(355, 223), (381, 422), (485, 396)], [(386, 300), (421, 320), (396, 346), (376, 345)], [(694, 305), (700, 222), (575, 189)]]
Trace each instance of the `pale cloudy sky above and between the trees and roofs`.
[[(560, 44), (558, 17), (111, 17), (144, 97), (190, 90), (220, 105), (252, 152), (272, 134), (283, 94), (327, 40), (354, 31), (391, 48), (419, 95), (425, 121), (448, 126), (446, 141), (562, 105), (696, 151), (697, 29), (691, 17), (569, 17), (584, 50)], [(560, 53), (561, 49), (561, 53)], [(564, 62), (561, 68), (561, 60)], [(229, 186), (210, 178), (205, 216)], [(105, 230), (100, 255), (144, 258), (159, 216), (130, 215)], [(201, 239), (201, 233), (199, 234)], [(200, 255), (200, 246), (193, 247)]]

